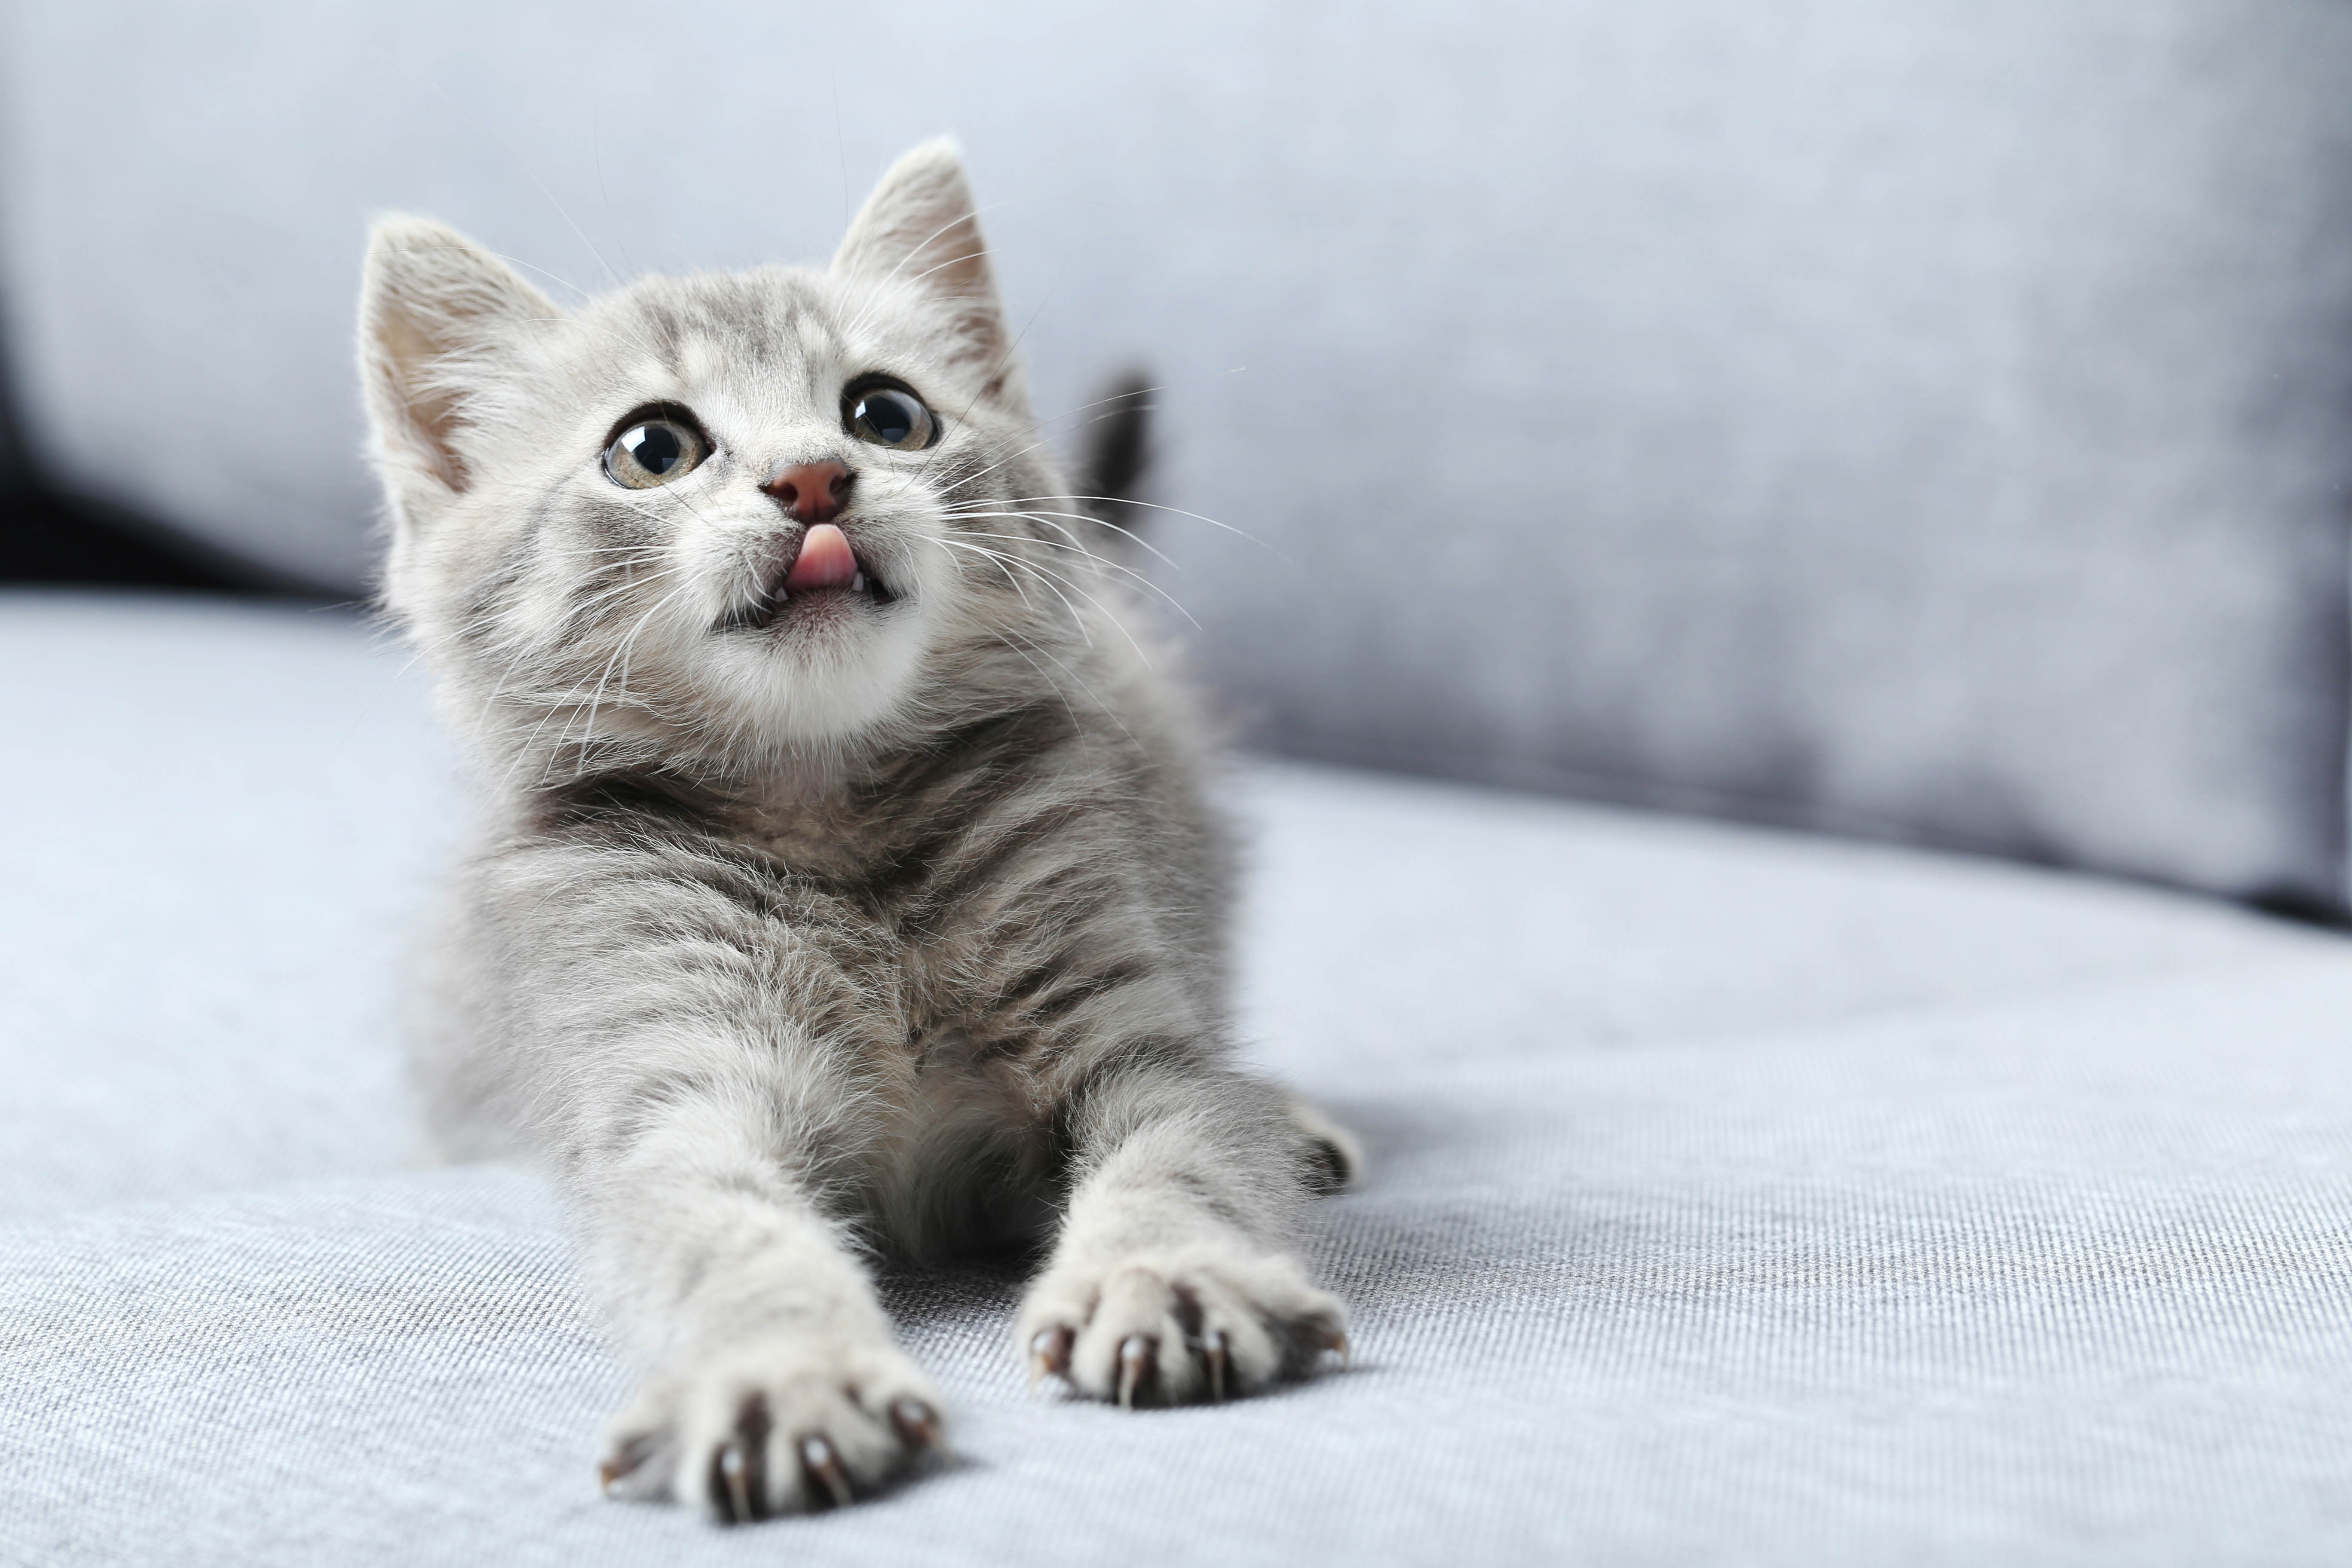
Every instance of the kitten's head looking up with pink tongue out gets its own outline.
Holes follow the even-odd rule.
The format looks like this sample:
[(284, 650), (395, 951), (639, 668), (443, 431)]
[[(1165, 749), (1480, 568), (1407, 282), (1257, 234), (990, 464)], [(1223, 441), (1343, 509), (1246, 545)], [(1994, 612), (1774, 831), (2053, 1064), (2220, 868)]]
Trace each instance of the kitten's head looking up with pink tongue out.
[(953, 719), (990, 670), (1042, 670), (1087, 597), (946, 141), (898, 160), (830, 268), (644, 277), (576, 310), (383, 219), (360, 371), (386, 604), (452, 712), (550, 769)]

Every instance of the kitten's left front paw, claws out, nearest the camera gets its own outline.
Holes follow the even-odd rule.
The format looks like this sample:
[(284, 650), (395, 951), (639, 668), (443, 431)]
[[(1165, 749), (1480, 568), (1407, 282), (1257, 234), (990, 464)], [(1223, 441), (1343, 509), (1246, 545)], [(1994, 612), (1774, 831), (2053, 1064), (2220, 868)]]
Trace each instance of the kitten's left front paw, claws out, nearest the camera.
[(896, 1345), (776, 1335), (649, 1378), (607, 1434), (604, 1490), (720, 1523), (842, 1507), (946, 1453), (938, 1408)]

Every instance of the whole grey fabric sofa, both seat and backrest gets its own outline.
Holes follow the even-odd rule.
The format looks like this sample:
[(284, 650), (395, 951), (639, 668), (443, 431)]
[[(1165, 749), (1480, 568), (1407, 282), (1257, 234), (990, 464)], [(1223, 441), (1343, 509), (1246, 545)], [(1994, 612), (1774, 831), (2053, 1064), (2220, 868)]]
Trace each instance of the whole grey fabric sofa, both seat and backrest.
[(906, 1274), (953, 1469), (602, 1502), (562, 1215), (416, 1159), (405, 651), (0, 590), (0, 1563), (2352, 1556), (2352, 945), (2246, 903), (2347, 896), (2352, 7), (663, 28), (12, 7), (28, 461), (355, 595), (365, 212), (816, 256), (960, 129), (1040, 404), (1263, 541), (1160, 536), (1355, 1361), (1077, 1406)]

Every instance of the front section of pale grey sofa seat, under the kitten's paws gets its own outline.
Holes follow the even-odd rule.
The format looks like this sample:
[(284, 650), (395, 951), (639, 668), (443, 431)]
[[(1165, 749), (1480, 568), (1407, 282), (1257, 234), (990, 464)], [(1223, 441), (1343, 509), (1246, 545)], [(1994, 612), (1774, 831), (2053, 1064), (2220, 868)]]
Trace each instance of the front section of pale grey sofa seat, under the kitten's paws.
[(9, 1563), (2340, 1563), (2352, 961), (1327, 1079), (1357, 1368), (1023, 1394), (896, 1284), (964, 1467), (717, 1533), (602, 1505), (621, 1378), (496, 1171), (0, 1227)]

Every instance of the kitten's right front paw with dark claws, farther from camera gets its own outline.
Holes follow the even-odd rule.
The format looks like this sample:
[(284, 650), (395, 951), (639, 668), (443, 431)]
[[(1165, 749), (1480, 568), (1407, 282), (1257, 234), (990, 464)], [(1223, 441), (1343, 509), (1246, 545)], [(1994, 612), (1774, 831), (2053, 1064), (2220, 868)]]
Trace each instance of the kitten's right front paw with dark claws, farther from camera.
[(1108, 1267), (1061, 1262), (1030, 1288), (1014, 1328), (1030, 1380), (1167, 1406), (1254, 1394), (1348, 1354), (1348, 1309), (1284, 1253), (1190, 1246)]

